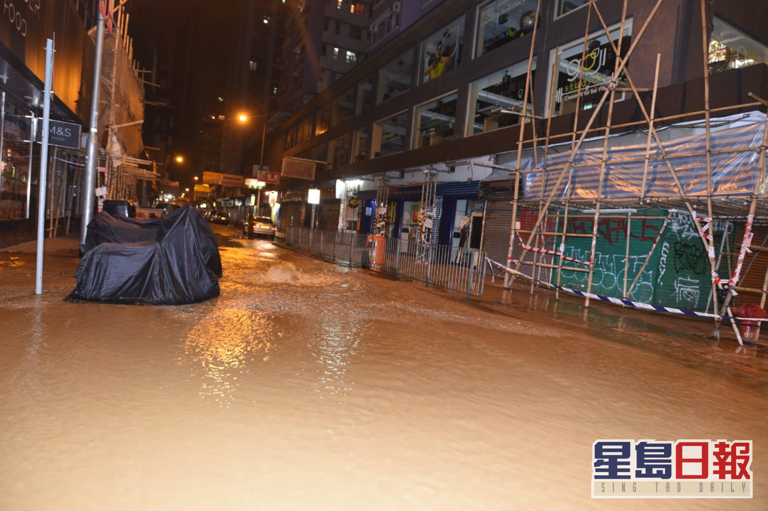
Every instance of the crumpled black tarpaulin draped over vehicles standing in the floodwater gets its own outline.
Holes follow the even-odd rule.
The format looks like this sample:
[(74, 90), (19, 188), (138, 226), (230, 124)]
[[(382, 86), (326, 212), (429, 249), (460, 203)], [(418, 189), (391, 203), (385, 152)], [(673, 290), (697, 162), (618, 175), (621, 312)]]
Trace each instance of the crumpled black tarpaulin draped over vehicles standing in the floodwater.
[[(111, 236), (134, 241), (102, 242), (88, 250), (78, 266), (78, 285), (69, 300), (178, 305), (219, 295), (217, 274), (210, 269), (213, 261), (219, 272), (221, 268), (216, 237), (191, 207), (149, 221), (98, 216), (98, 222), (94, 218), (88, 225), (89, 236), (94, 225), (98, 231), (94, 239)], [(155, 223), (154, 228), (147, 222)], [(154, 236), (142, 239), (148, 232)]]

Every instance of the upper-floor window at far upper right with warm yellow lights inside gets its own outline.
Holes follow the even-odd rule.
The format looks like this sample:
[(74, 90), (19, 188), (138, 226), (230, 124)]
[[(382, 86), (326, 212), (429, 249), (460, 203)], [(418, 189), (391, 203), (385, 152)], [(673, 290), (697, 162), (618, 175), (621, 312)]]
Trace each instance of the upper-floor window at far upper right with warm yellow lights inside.
[(707, 62), (710, 74), (763, 64), (768, 62), (768, 47), (714, 18)]

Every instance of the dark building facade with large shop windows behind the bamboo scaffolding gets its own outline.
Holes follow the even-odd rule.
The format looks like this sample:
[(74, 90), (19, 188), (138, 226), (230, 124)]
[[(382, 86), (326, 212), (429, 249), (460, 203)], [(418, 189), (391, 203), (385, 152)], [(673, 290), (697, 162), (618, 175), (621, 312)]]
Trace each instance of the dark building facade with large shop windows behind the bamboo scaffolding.
[[(654, 114), (670, 125), (703, 120), (707, 110), (710, 117), (748, 110), (742, 104), (764, 111), (747, 97), (750, 91), (764, 97), (768, 86), (768, 37), (756, 21), (768, 14), (763, 2), (416, 3), (424, 9), (396, 38), (379, 38), (372, 23), (375, 51), (273, 134), (270, 164), (283, 163), (280, 209), (288, 213), (280, 215), (281, 228), (309, 226), (303, 197), (316, 187), (335, 191), (326, 193), (316, 215), (323, 229), (372, 232), (383, 206), (385, 235), (415, 239), (425, 209), (422, 190), (435, 180), (427, 205), (435, 217), (431, 241), (456, 246), (462, 226), (470, 224), (470, 246), (507, 262), (513, 219), (515, 230), (531, 229), (539, 218), (513, 211), (524, 200), (517, 171), (568, 150), (588, 121), (591, 137), (611, 124), (611, 134), (625, 132), (613, 145), (640, 137), (637, 122), (647, 123), (643, 112), (651, 101)], [(374, 3), (374, 18), (385, 4)], [(627, 71), (611, 85), (617, 55), (630, 51)], [(615, 91), (611, 114), (607, 88)], [(675, 133), (681, 131), (668, 132)], [(602, 147), (601, 140), (583, 147), (591, 143)], [(313, 173), (296, 179), (285, 172), (286, 162), (302, 160), (315, 162)]]

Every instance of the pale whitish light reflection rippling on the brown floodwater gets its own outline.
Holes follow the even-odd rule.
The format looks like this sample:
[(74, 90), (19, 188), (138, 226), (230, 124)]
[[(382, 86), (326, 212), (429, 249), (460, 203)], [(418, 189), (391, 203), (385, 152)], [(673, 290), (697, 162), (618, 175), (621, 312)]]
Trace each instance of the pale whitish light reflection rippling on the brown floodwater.
[(369, 324), (359, 318), (323, 318), (316, 337), (309, 341), (313, 357), (321, 367), (316, 368), (318, 382), (315, 391), (321, 398), (331, 397), (345, 404), (354, 381), (348, 381), (349, 364), (362, 351), (362, 335)]

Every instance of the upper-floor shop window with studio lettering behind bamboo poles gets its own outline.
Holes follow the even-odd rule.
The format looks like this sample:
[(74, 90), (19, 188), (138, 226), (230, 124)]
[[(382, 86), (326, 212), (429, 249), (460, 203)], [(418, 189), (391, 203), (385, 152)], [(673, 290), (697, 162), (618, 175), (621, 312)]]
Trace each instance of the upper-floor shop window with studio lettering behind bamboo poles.
[[(611, 82), (616, 64), (611, 40), (614, 45), (619, 43), (619, 30), (614, 28), (610, 32), (611, 39), (604, 31), (595, 32), (589, 36), (587, 49), (584, 51), (584, 40), (574, 41), (569, 45), (552, 50), (551, 58), (559, 50), (559, 65), (554, 87), (554, 97), (551, 98), (551, 115), (570, 114), (576, 110), (576, 103), (581, 110), (589, 110), (598, 104), (603, 97), (605, 87)], [(632, 20), (627, 20), (624, 28), (624, 37), (621, 38), (620, 53), (626, 54), (631, 45)], [(584, 53), (584, 61), (581, 61)], [(628, 65), (627, 65), (628, 67)], [(579, 83), (581, 77), (581, 84)], [(552, 80), (553, 77), (550, 77)], [(550, 82), (551, 83), (551, 82)], [(627, 80), (622, 71), (617, 87), (627, 88)], [(626, 97), (625, 92), (616, 94), (616, 101), (622, 101)]]

